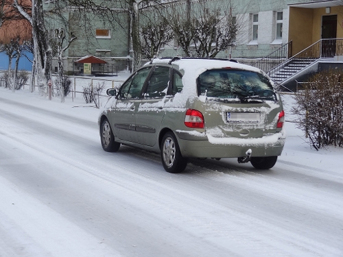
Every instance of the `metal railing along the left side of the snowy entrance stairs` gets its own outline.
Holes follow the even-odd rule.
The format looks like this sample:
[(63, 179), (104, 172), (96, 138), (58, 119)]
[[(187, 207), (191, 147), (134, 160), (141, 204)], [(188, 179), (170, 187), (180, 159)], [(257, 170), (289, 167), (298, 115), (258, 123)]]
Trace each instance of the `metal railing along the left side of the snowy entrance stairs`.
[(265, 73), (268, 73), (268, 71), (273, 69), (275, 66), (278, 66), (279, 64), (285, 62), (285, 60), (287, 60), (291, 56), (292, 40), (270, 53), (270, 55), (265, 56), (261, 60), (255, 62), (254, 64), (252, 64), (252, 66), (255, 66), (262, 71), (265, 71)]

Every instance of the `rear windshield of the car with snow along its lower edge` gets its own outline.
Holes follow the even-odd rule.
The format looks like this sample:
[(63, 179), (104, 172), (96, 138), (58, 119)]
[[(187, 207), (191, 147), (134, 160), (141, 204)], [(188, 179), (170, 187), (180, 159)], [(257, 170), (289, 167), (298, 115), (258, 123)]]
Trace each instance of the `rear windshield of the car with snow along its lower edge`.
[(213, 69), (198, 77), (198, 95), (220, 99), (271, 99), (274, 88), (268, 77), (253, 71)]

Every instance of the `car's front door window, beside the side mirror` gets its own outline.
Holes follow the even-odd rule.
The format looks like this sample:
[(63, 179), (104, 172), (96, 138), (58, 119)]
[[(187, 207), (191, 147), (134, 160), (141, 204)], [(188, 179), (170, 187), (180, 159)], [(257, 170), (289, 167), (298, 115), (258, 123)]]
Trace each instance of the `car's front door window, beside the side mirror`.
[(141, 95), (145, 79), (150, 73), (151, 67), (143, 68), (137, 71), (130, 79), (128, 79), (120, 88), (120, 99), (135, 99)]

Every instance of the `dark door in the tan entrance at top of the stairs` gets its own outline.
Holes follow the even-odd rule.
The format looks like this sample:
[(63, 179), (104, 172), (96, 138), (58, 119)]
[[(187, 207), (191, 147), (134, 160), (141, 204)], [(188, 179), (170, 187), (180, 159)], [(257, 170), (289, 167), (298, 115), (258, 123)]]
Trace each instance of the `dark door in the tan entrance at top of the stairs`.
[(322, 16), (322, 51), (320, 57), (334, 58), (336, 51), (337, 15)]

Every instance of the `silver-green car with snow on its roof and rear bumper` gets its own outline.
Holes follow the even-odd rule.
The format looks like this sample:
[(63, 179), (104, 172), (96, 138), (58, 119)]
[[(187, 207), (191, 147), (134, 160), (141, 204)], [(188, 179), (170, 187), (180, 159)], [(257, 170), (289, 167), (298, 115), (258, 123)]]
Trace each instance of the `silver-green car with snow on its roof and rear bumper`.
[(274, 167), (283, 151), (283, 105), (270, 78), (252, 66), (206, 58), (154, 59), (135, 71), (99, 116), (105, 151), (121, 144), (161, 154), (170, 173), (189, 158), (237, 158)]

